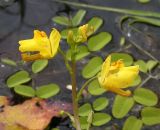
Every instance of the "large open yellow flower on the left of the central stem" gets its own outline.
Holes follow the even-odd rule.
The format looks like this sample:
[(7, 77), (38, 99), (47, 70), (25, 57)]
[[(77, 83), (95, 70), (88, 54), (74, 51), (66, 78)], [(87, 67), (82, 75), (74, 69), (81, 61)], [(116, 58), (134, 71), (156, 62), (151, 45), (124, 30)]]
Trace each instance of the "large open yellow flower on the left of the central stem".
[(34, 30), (33, 39), (19, 41), (19, 50), (22, 52), (24, 61), (32, 61), (37, 59), (50, 59), (57, 53), (61, 35), (53, 29), (50, 36), (45, 32)]

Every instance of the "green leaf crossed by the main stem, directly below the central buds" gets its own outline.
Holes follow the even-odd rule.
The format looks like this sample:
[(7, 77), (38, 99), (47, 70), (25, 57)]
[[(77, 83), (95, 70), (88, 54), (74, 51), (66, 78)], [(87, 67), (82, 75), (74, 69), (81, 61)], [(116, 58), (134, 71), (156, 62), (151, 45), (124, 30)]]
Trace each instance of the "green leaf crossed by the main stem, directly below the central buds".
[[(86, 46), (78, 46), (77, 47), (77, 54), (75, 56), (76, 61), (81, 60), (82, 58), (88, 56), (90, 52), (88, 51), (88, 48)], [(71, 50), (67, 51), (67, 59), (71, 60)]]

